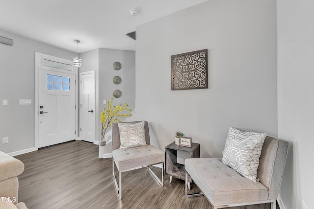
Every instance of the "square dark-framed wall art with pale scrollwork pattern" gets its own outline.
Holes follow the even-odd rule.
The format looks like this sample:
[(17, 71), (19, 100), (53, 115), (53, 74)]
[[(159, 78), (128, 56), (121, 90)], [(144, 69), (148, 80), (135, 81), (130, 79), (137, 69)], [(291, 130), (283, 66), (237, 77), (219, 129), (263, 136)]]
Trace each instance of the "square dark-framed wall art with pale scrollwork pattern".
[(208, 89), (208, 49), (171, 56), (171, 90)]

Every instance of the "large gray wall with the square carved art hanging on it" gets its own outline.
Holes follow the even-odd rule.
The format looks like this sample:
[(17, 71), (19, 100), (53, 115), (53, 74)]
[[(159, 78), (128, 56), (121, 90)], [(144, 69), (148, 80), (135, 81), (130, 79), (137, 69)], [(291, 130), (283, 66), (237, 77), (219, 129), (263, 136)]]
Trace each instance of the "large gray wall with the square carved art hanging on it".
[[(210, 0), (136, 28), (136, 108), (163, 149), (180, 130), (220, 157), (228, 128), (277, 136), (276, 1)], [(171, 91), (170, 56), (208, 48), (209, 89)]]

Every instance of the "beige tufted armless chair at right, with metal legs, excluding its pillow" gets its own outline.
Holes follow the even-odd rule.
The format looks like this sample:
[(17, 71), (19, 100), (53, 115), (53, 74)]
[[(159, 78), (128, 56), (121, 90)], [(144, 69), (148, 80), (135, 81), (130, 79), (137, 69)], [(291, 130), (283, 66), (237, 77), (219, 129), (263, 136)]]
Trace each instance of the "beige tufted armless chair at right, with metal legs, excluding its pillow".
[(257, 182), (243, 177), (220, 158), (191, 158), (185, 160), (188, 175), (202, 191), (185, 196), (204, 195), (213, 209), (271, 203), (275, 209), (280, 183), (286, 163), (288, 142), (267, 136), (257, 170)]

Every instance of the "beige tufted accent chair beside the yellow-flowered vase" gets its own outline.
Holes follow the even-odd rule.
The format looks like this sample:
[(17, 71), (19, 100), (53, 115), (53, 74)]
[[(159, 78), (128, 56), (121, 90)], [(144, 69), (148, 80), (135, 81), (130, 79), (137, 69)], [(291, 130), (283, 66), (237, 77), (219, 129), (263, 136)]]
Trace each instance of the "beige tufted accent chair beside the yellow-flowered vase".
[[(134, 121), (120, 123), (123, 124), (136, 124), (144, 122), (144, 135), (146, 145), (140, 144), (140, 146), (127, 147), (125, 146), (123, 139), (121, 140), (120, 129), (118, 123), (111, 125), (112, 131), (112, 175), (113, 181), (117, 190), (119, 200), (122, 199), (122, 173), (147, 167), (149, 173), (155, 178), (160, 186), (163, 186), (163, 168), (164, 168), (164, 152), (157, 147), (150, 144), (150, 136), (147, 121)], [(128, 139), (128, 133), (124, 133), (123, 137)], [(122, 141), (122, 143), (121, 143)], [(144, 142), (145, 143), (145, 142)], [(151, 165), (161, 164), (161, 179), (151, 170)], [(115, 177), (115, 165), (119, 171), (119, 186)]]

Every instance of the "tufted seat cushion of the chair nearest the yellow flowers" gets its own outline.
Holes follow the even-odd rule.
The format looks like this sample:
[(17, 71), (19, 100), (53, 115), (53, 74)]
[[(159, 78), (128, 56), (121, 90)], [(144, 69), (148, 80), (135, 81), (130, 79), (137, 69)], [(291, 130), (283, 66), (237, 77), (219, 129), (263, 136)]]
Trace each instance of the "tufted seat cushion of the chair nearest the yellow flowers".
[(164, 153), (153, 145), (146, 145), (113, 150), (112, 157), (118, 170), (123, 171), (143, 164), (150, 165), (163, 162)]

